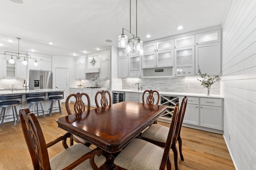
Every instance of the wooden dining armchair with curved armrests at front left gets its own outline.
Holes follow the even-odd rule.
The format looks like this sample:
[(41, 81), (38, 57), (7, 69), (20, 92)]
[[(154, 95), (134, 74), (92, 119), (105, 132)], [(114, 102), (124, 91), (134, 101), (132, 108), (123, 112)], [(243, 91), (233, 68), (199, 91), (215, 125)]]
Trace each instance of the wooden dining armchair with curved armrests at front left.
[[(46, 144), (44, 134), (38, 119), (29, 109), (20, 109), (20, 122), (23, 135), (30, 152), (35, 170), (60, 170), (60, 169), (88, 169), (102, 170), (106, 158), (102, 156), (102, 150), (91, 150), (78, 143), (68, 147), (66, 139), (70, 133), (58, 137)], [(64, 150), (49, 159), (48, 148), (62, 141)]]

